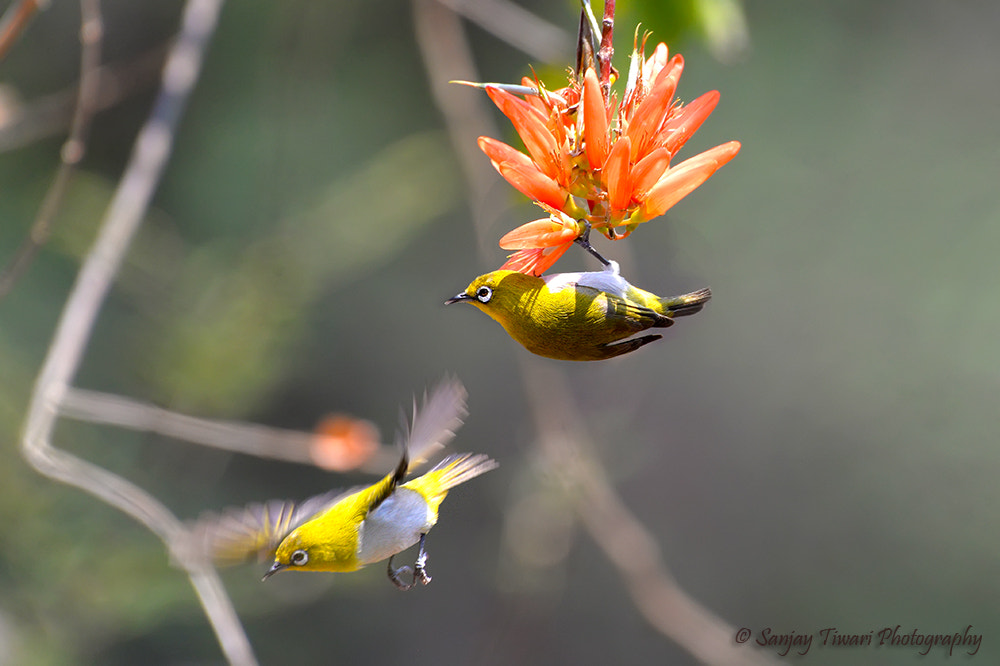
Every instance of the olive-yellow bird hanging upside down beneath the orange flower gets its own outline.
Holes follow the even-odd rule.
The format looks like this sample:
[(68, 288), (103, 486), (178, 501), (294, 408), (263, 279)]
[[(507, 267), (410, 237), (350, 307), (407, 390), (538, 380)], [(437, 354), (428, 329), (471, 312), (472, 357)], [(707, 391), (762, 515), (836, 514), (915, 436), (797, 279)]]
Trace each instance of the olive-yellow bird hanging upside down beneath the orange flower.
[[(603, 261), (603, 259), (602, 259)], [(603, 271), (535, 277), (499, 270), (480, 275), (445, 304), (471, 303), (497, 320), (528, 351), (564, 361), (599, 361), (659, 340), (648, 328), (673, 325), (674, 317), (701, 310), (712, 297), (707, 287), (660, 298), (633, 287), (615, 261)]]

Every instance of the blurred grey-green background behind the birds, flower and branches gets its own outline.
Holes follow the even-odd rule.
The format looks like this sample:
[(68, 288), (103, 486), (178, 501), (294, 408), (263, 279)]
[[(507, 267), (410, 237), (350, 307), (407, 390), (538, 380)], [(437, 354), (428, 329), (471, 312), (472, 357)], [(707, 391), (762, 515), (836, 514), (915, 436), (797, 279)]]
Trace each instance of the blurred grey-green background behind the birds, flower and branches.
[[(712, 10), (724, 4), (619, 4), (620, 68), (641, 21), (683, 52), (682, 99), (722, 93), (683, 155), (729, 139), (743, 149), (634, 242), (600, 247), (638, 285), (710, 284), (715, 298), (635, 354), (537, 362), (575, 387), (601, 460), (681, 586), (735, 627), (972, 625), (979, 654), (952, 659), (995, 663), (1000, 5), (755, 2), (749, 48), (720, 58)], [(105, 60), (162, 48), (181, 6), (102, 3)], [(576, 5), (525, 6), (565, 30), (561, 59), (541, 67), (561, 85)], [(36, 17), (0, 63), (8, 110), (72, 90), (78, 24), (72, 2)], [(545, 64), (468, 31), (485, 80)], [(572, 524), (509, 543), (533, 534), (512, 527), (520, 500), (545, 491), (517, 372), (529, 355), (471, 308), (442, 305), (504, 252), (477, 256), (469, 220), (484, 202), (468, 198), (428, 77), (409, 3), (230, 2), (78, 385), (304, 430), (348, 411), (389, 439), (415, 392), (445, 373), (465, 382), (454, 447), (502, 466), (446, 502), (428, 542), (434, 583), (403, 595), (381, 566), (266, 585), (260, 567), (226, 571), (262, 663), (692, 663)], [(155, 537), (37, 476), (17, 445), (151, 99), (136, 85), (97, 117), (52, 241), (0, 301), (3, 664), (222, 661)], [(6, 261), (62, 137), (18, 142), (7, 121), (0, 139)], [(517, 203), (486, 230), (493, 239), (534, 215), (499, 177), (495, 189)], [(557, 268), (592, 263), (573, 251)], [(184, 518), (364, 480), (71, 421), (56, 443)], [(817, 641), (795, 660), (947, 658)]]

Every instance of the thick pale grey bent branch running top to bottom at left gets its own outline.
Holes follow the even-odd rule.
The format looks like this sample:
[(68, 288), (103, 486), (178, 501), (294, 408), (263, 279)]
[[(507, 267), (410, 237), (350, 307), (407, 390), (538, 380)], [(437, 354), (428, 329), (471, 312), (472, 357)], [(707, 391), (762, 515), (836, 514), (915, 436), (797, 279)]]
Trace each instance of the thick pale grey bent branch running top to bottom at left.
[(60, 405), (76, 375), (94, 321), (166, 166), (221, 5), (221, 0), (188, 0), (184, 7), (180, 34), (167, 58), (150, 118), (136, 139), (128, 166), (94, 246), (77, 275), (35, 383), (24, 426), (22, 453), (41, 474), (94, 495), (132, 516), (162, 539), (187, 572), (230, 663), (256, 664), (218, 574), (203, 558), (182, 548), (184, 527), (173, 514), (142, 488), (55, 448), (51, 442)]

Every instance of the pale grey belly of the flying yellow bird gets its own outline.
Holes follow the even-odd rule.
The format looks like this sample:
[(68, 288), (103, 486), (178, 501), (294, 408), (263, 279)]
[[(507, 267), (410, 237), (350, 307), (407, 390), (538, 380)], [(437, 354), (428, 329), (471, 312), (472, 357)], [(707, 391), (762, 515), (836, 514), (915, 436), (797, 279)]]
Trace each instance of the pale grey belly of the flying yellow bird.
[(415, 544), (430, 528), (424, 498), (398, 488), (361, 523), (358, 559), (364, 564), (384, 560)]

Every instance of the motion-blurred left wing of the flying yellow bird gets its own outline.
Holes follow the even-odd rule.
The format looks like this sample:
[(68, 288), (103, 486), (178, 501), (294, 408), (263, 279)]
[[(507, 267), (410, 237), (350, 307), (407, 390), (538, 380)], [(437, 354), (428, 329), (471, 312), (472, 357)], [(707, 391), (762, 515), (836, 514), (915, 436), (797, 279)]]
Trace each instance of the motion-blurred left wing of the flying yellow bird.
[(289, 532), (354, 490), (333, 490), (300, 503), (270, 500), (206, 512), (190, 525), (188, 545), (219, 566), (269, 561)]

